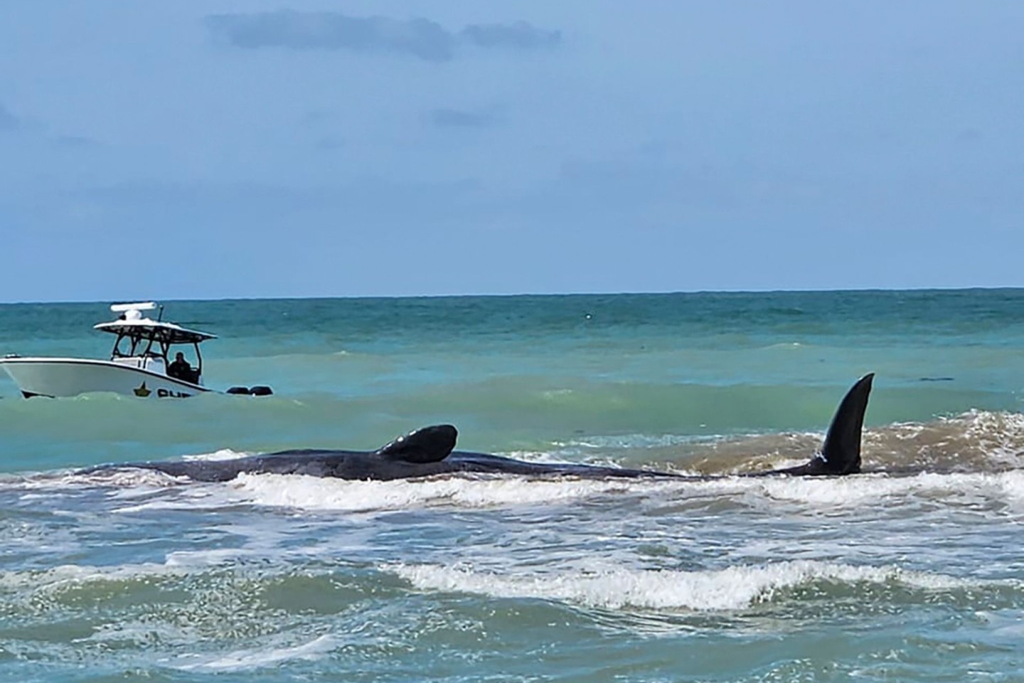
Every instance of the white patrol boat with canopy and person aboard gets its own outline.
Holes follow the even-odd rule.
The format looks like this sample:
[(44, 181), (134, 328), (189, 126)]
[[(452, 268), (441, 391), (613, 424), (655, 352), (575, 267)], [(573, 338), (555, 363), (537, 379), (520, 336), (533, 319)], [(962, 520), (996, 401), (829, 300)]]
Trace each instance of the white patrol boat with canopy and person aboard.
[[(174, 323), (154, 321), (142, 311), (155, 310), (153, 301), (111, 306), (118, 319), (93, 326), (117, 335), (109, 360), (92, 358), (22, 357), (0, 358), (2, 367), (26, 398), (33, 396), (77, 396), (92, 391), (110, 391), (139, 397), (184, 398), (212, 391), (203, 386), (203, 356), (199, 345), (215, 335), (187, 330)], [(175, 346), (191, 346), (196, 366), (187, 360), (170, 360)], [(182, 354), (183, 355), (183, 354)], [(228, 393), (271, 393), (269, 387), (231, 387)]]

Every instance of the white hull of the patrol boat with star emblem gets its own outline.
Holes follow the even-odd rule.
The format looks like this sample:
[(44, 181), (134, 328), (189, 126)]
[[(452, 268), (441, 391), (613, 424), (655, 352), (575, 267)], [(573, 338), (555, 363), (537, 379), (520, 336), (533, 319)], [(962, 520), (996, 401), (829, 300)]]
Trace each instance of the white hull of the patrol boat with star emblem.
[(185, 398), (210, 391), (199, 384), (111, 360), (2, 358), (0, 368), (27, 398), (77, 396), (94, 391), (140, 398)]

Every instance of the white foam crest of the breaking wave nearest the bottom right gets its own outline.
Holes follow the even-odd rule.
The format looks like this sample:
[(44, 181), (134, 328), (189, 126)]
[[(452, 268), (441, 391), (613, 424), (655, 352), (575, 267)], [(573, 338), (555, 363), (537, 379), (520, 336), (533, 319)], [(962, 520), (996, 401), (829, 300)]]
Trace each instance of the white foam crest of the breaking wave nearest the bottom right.
[(594, 607), (743, 609), (766, 602), (778, 590), (817, 581), (899, 583), (926, 590), (972, 584), (952, 577), (906, 571), (896, 566), (852, 566), (815, 560), (731, 566), (712, 571), (614, 569), (593, 573), (503, 575), (437, 565), (383, 567), (425, 591), (476, 593), (496, 598), (543, 598)]

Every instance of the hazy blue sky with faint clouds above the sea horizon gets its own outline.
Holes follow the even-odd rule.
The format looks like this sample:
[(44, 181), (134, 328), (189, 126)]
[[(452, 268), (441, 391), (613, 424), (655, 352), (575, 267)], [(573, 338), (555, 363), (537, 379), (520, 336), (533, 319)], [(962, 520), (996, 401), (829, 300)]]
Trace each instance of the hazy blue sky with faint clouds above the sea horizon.
[(1024, 285), (1019, 0), (0, 0), (0, 301)]

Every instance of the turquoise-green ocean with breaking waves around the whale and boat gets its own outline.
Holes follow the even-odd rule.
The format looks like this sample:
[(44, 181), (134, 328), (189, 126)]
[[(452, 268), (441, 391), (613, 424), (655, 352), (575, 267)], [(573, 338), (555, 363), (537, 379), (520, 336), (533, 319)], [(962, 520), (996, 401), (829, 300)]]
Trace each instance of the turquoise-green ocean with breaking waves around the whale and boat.
[[(1024, 290), (163, 303), (208, 386), (274, 394), (0, 376), (0, 680), (1024, 680)], [(111, 317), (0, 305), (0, 355), (105, 357)], [(868, 372), (865, 473), (734, 476)], [(436, 423), (714, 478), (79, 472)]]

